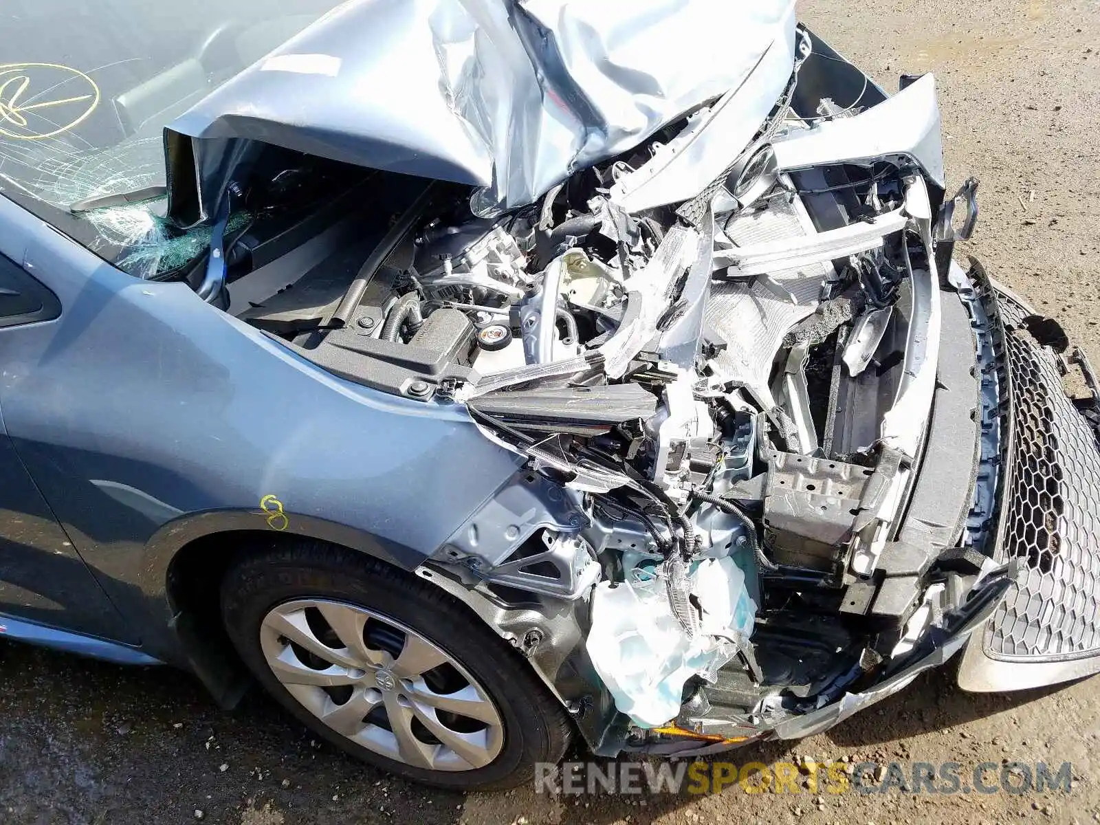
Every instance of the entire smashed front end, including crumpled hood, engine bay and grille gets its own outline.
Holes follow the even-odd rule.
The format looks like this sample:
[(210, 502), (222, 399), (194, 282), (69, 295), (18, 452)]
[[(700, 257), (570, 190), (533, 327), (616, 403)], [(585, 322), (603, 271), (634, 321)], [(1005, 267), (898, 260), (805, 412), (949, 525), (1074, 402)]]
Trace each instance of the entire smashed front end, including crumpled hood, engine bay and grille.
[[(182, 117), (168, 217), (215, 223), (210, 302), (514, 458), (417, 574), (596, 752), (804, 736), (964, 649), (976, 690), (1100, 669), (1096, 383), (953, 261), (977, 184), (947, 189), (931, 75), (888, 96), (783, 2), (603, 40), (570, 3), (416, 6), (341, 7)], [(691, 32), (730, 14), (700, 80), (723, 37)], [(356, 46), (372, 20), (400, 47)], [(661, 31), (696, 63), (616, 51)], [(424, 106), (376, 87), (386, 55)], [(222, 233), (266, 144), (396, 206), (345, 278), (238, 308)]]

